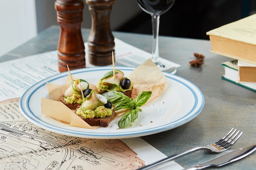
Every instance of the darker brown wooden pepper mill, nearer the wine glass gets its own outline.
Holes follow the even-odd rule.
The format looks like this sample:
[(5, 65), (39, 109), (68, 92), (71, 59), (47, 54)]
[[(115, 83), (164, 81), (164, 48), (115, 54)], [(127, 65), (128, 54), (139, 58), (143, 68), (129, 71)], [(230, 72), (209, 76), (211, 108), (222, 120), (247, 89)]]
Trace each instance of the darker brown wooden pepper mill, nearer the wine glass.
[(110, 13), (114, 2), (115, 0), (86, 0), (92, 17), (92, 28), (88, 37), (90, 64), (96, 66), (112, 64), (115, 42), (110, 29)]

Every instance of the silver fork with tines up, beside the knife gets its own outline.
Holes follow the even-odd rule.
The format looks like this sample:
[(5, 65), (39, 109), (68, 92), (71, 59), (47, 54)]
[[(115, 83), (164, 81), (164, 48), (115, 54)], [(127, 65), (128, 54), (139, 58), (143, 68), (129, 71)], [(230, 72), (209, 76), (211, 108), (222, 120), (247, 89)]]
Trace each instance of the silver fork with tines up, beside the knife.
[[(234, 145), (236, 143), (236, 141), (240, 138), (240, 136), (242, 135), (243, 132), (240, 132), (240, 130), (237, 130), (234, 128), (232, 128), (228, 133), (227, 135), (225, 135), (222, 139), (220, 139), (219, 141), (217, 141), (216, 143), (213, 143), (213, 144), (208, 144), (208, 145), (203, 145), (203, 146), (195, 146), (193, 148), (190, 148), (188, 150), (184, 150), (180, 153), (177, 153), (175, 155), (171, 155), (169, 157), (166, 157), (164, 159), (161, 159), (159, 161), (156, 161), (154, 163), (151, 163), (147, 166), (143, 166), (137, 170), (149, 170), (151, 168), (156, 168), (160, 165), (163, 165), (177, 157), (180, 157), (182, 155), (186, 155), (188, 153), (191, 153), (193, 151), (196, 151), (196, 150), (202, 150), (202, 149), (206, 149), (206, 150), (209, 150), (211, 152), (215, 152), (215, 153), (219, 153), (219, 152), (223, 152), (227, 149), (229, 149), (232, 145)], [(236, 132), (236, 134), (235, 134)], [(235, 134), (235, 135), (234, 135)]]

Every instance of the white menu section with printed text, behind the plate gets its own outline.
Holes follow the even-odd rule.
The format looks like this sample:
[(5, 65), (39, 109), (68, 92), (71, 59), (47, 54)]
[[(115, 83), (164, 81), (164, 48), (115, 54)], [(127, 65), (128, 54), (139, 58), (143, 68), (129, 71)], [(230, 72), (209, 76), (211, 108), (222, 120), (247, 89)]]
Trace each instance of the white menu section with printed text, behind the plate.
[[(88, 62), (85, 43), (86, 67), (95, 67)], [(115, 38), (115, 66), (136, 67), (151, 57), (151, 54)], [(179, 64), (161, 59), (165, 64)], [(110, 65), (112, 66), (112, 65)], [(30, 86), (47, 77), (58, 74), (57, 51), (50, 51), (0, 63), (0, 101), (20, 97)]]

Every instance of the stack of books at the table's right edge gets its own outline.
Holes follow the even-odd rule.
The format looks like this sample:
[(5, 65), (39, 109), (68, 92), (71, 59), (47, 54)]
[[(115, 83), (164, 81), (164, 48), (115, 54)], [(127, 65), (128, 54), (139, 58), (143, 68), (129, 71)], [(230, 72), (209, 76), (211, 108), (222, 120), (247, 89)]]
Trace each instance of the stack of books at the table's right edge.
[(256, 14), (220, 26), (206, 33), (211, 52), (231, 58), (222, 63), (222, 76), (256, 92)]

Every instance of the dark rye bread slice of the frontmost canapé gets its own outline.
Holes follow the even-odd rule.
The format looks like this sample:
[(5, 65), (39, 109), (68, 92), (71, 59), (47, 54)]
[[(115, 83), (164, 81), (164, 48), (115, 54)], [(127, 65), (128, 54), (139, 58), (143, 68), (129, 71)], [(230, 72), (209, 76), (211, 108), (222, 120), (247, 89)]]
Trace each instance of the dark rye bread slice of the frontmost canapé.
[[(78, 106), (76, 108), (76, 110), (79, 108), (80, 106)], [(76, 113), (75, 110), (75, 113)], [(116, 112), (115, 109), (112, 110), (112, 115), (111, 116), (106, 116), (104, 118), (84, 118), (80, 115), (78, 115), (79, 117), (81, 117), (81, 119), (83, 119), (86, 123), (88, 123), (90, 126), (101, 126), (101, 127), (108, 127), (110, 121), (112, 121), (115, 118)]]

